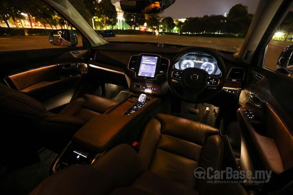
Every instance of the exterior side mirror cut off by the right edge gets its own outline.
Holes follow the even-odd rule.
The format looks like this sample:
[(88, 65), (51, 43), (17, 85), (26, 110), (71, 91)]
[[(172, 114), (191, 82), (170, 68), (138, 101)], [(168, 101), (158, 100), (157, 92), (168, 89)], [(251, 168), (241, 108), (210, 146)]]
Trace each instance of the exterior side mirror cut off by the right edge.
[(277, 62), (277, 68), (279, 70), (285, 71), (286, 73), (292, 74), (293, 73), (293, 45), (288, 46), (285, 48), (279, 57)]

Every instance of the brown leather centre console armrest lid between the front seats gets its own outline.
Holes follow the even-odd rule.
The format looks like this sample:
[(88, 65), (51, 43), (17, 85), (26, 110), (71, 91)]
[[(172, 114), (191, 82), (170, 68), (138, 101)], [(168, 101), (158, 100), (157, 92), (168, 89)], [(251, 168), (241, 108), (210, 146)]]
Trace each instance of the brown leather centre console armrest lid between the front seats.
[(74, 134), (73, 140), (93, 151), (103, 152), (132, 119), (134, 115), (97, 115)]

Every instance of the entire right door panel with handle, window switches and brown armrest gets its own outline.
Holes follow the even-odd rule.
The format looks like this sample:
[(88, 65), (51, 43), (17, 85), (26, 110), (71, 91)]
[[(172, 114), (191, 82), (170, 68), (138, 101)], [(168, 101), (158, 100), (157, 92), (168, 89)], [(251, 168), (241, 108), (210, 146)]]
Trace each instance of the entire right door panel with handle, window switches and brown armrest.
[(237, 119), (255, 165), (281, 173), (293, 167), (293, 104), (288, 102), (293, 80), (264, 68), (253, 69), (248, 70), (239, 97)]

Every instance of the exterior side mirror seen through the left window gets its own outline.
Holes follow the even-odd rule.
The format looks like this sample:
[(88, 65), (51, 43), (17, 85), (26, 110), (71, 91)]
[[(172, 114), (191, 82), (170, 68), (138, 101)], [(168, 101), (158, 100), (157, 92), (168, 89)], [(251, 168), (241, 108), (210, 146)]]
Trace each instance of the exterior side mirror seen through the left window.
[(49, 34), (49, 42), (55, 46), (71, 47), (78, 44), (77, 34), (72, 30), (53, 30)]

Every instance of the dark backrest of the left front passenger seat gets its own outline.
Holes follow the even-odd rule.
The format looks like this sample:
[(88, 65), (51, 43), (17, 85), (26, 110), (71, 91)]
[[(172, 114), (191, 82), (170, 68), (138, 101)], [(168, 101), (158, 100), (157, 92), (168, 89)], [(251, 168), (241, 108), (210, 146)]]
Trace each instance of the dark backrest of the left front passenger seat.
[(50, 113), (36, 99), (0, 85), (1, 130), (0, 146), (9, 153), (28, 141), (38, 141), (50, 149), (67, 143), (85, 124), (77, 117)]

